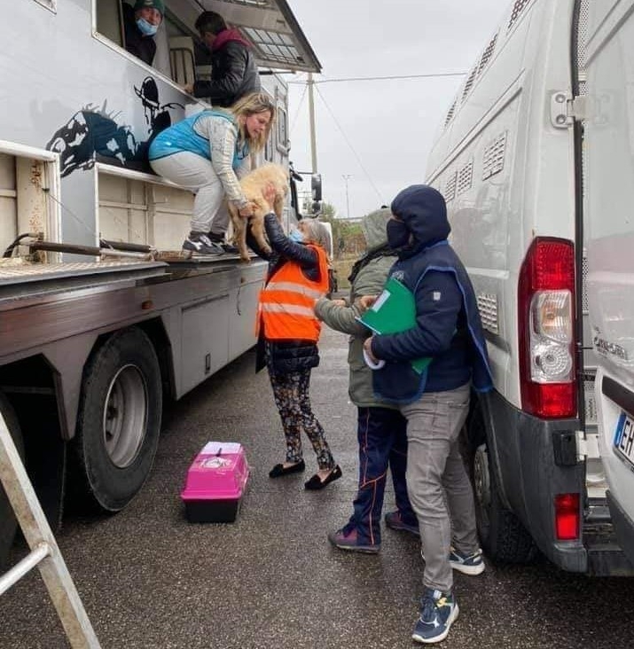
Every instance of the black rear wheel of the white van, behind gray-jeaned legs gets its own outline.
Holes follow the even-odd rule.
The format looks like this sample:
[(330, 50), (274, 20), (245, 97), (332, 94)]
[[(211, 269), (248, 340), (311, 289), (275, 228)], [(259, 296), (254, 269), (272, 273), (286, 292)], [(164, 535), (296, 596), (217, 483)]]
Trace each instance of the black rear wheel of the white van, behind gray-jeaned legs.
[(486, 444), (475, 450), (472, 469), (475, 515), (486, 554), (503, 563), (528, 563), (535, 559), (532, 537), (517, 516), (500, 502)]

